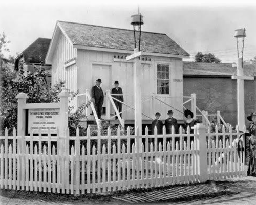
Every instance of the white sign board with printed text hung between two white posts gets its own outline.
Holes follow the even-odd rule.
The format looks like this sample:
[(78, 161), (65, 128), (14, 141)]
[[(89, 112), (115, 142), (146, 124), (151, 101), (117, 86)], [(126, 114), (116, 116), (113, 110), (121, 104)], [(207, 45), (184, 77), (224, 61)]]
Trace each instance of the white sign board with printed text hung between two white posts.
[[(47, 134), (50, 129), (51, 134), (57, 133), (60, 122), (59, 108), (29, 109), (28, 110), (28, 132), (34, 134)], [(31, 134), (31, 133), (30, 133)]]

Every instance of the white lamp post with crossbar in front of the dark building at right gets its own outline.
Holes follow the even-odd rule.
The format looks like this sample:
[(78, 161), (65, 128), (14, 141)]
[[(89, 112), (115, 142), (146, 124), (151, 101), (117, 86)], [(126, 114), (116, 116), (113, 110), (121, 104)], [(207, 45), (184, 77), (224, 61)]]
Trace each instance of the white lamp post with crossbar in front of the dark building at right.
[[(243, 131), (245, 125), (245, 113), (244, 113), (244, 80), (253, 80), (253, 76), (244, 76), (244, 39), (246, 37), (245, 28), (235, 30), (234, 37), (237, 39), (237, 53), (238, 53), (238, 63), (237, 63), (237, 75), (232, 76), (232, 79), (237, 80), (237, 101), (238, 101), (238, 126), (239, 130)], [(241, 57), (239, 55), (239, 40), (242, 39), (242, 50)]]

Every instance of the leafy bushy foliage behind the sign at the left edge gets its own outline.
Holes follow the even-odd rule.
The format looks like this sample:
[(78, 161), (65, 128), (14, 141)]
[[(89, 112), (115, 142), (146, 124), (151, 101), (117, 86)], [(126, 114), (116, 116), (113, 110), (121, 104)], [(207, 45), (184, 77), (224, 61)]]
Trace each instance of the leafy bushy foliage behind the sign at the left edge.
[[(71, 92), (65, 88), (65, 82), (59, 82), (50, 87), (47, 83), (47, 73), (42, 65), (35, 66), (34, 73), (24, 75), (23, 63), (20, 64), (19, 72), (14, 70), (13, 58), (3, 59), (3, 53), (1, 48), (7, 50), (9, 41), (5, 40), (5, 36), (0, 34), (0, 131), (3, 131), (5, 127), (17, 128), (17, 99), (16, 95), (20, 92), (26, 93), (29, 98), (27, 103), (50, 103), (59, 102), (58, 94), (61, 90), (68, 90), (71, 94), (72, 100), (77, 96), (77, 92)], [(69, 106), (69, 129), (74, 131), (79, 126), (81, 118), (86, 118), (84, 115), (84, 109), (89, 106), (88, 104), (82, 104), (75, 111), (74, 107)]]

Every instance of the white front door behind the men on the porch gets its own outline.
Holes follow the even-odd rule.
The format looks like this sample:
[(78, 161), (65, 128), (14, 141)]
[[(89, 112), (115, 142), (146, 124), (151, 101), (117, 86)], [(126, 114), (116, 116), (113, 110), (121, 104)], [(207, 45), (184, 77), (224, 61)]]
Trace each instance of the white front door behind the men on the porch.
[(111, 66), (110, 65), (99, 65), (99, 64), (93, 64), (93, 80), (92, 80), (92, 86), (96, 85), (96, 80), (101, 79), (102, 83), (100, 87), (103, 90), (104, 93), (104, 103), (103, 103), (103, 112), (105, 113), (105, 92), (108, 89), (111, 89), (112, 79), (111, 79)]

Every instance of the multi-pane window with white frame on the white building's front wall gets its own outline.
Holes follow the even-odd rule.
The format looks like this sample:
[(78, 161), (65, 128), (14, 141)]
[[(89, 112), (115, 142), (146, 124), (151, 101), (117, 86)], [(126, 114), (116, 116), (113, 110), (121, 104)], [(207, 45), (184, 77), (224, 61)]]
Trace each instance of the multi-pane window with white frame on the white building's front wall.
[(157, 94), (169, 94), (169, 65), (157, 64)]

